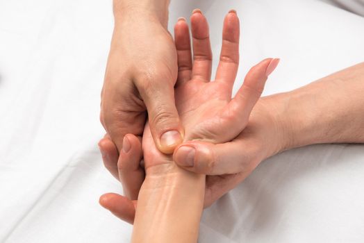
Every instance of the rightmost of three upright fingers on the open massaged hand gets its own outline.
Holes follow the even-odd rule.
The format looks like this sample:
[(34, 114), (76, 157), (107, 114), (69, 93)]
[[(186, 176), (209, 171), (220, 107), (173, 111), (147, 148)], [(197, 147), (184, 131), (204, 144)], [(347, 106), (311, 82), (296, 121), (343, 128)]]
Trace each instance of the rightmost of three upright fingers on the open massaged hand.
[(231, 10), (224, 19), (220, 62), (215, 78), (216, 81), (226, 82), (230, 90), (233, 88), (239, 66), (239, 32), (238, 15), (235, 10)]

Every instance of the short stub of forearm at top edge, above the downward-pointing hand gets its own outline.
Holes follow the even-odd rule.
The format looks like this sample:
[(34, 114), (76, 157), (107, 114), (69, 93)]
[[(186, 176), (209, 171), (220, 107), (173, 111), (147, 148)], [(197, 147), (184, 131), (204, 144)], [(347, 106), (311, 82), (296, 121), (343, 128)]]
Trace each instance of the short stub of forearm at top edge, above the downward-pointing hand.
[(151, 17), (157, 19), (165, 28), (168, 23), (169, 0), (113, 0), (115, 19)]

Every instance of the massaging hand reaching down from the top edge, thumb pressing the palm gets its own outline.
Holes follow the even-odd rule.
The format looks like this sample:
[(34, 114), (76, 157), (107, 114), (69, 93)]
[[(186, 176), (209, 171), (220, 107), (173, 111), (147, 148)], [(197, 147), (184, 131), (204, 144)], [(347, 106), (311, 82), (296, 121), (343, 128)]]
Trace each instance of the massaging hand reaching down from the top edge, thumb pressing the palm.
[(115, 28), (101, 91), (101, 123), (121, 151), (126, 133), (142, 135), (148, 111), (154, 142), (163, 153), (172, 153), (184, 135), (174, 104), (176, 47), (163, 26), (165, 19), (144, 8), (120, 5), (114, 1)]

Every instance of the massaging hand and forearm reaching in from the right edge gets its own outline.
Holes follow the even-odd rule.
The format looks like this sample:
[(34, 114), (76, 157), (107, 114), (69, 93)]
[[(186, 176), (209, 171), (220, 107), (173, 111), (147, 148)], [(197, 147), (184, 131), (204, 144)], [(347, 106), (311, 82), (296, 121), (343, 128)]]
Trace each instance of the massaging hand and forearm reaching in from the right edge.
[[(174, 152), (174, 161), (188, 171), (208, 175), (204, 206), (210, 206), (241, 183), (262, 160), (280, 151), (308, 144), (363, 143), (363, 80), (364, 62), (297, 90), (263, 97), (251, 111), (245, 129), (233, 140), (220, 144), (185, 142)], [(99, 145), (105, 165), (133, 164), (135, 154), (138, 157), (136, 143), (131, 145), (129, 153), (120, 156), (107, 136)], [(183, 153), (179, 154), (185, 145), (196, 149), (192, 167), (184, 166)], [(121, 174), (123, 169), (128, 171), (120, 167)], [(123, 187), (128, 190), (131, 184), (123, 183)], [(132, 194), (138, 195), (138, 191)], [(101, 196), (101, 205), (120, 219), (133, 222), (136, 201), (129, 199), (136, 197), (105, 194)]]

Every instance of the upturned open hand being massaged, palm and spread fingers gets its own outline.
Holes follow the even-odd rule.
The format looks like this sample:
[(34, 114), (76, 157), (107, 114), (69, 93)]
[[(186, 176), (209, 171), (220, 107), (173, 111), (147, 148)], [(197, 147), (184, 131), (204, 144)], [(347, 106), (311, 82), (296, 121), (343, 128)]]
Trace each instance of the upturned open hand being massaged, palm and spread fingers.
[[(239, 21), (229, 13), (224, 22), (222, 53), (215, 81), (210, 82), (211, 50), (208, 24), (201, 14), (191, 17), (194, 62), (188, 26), (179, 22), (175, 28), (175, 42), (179, 60), (179, 75), (174, 90), (176, 108), (185, 128), (185, 141), (200, 140), (223, 143), (237, 137), (247, 124), (249, 114), (260, 97), (266, 79), (265, 60), (251, 70), (238, 96), (231, 99), (231, 91), (238, 71)], [(244, 97), (243, 97), (244, 96)], [(172, 156), (160, 153), (152, 140), (149, 126), (144, 128), (142, 147), (144, 165), (171, 163)]]

